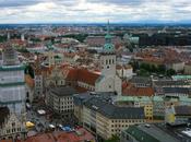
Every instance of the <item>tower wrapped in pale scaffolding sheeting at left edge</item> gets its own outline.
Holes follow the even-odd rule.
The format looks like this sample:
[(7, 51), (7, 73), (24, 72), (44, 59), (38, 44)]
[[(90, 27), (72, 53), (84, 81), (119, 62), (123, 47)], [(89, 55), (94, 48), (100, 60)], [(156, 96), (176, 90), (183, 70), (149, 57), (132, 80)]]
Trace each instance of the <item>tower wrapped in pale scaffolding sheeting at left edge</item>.
[(20, 63), (16, 51), (8, 44), (0, 64), (0, 106), (3, 104), (11, 113), (21, 115), (24, 102), (24, 66)]

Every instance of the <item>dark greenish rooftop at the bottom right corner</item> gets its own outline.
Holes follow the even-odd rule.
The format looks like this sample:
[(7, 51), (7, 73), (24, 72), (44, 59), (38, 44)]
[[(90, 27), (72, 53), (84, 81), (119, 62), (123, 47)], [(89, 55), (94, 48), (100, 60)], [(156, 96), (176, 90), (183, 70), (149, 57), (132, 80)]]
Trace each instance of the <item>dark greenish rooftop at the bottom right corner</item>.
[[(184, 126), (166, 126), (165, 123), (130, 126), (126, 132), (133, 135), (139, 142), (186, 142), (190, 138), (182, 135)], [(163, 135), (163, 137), (162, 137)]]

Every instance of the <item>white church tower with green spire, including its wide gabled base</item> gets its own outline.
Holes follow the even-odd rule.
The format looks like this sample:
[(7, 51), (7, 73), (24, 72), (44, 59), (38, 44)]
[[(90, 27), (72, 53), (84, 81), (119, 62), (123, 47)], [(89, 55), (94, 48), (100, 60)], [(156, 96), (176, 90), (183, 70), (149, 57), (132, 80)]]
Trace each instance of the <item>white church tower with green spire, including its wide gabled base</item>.
[(114, 92), (121, 95), (121, 79), (116, 74), (116, 50), (111, 43), (112, 36), (109, 32), (109, 22), (107, 24), (107, 34), (105, 45), (100, 52), (100, 71), (102, 74), (96, 81), (96, 92)]

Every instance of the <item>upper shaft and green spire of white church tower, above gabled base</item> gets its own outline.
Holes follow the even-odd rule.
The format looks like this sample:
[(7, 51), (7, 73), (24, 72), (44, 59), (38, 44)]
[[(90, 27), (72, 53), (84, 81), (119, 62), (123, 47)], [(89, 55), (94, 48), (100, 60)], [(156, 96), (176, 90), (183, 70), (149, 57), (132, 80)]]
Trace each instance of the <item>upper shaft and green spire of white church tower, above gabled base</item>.
[(111, 39), (112, 36), (110, 35), (108, 21), (107, 34), (105, 36), (105, 45), (100, 54), (102, 74), (105, 76), (116, 75), (116, 51)]

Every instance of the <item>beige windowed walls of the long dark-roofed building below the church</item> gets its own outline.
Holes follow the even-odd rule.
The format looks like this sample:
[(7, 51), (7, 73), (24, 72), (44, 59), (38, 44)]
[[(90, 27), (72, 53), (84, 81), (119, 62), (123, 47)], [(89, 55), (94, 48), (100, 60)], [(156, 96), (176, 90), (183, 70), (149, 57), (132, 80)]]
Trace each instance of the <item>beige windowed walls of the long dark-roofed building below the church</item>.
[[(84, 128), (104, 139), (109, 139), (112, 134), (120, 135), (121, 131), (131, 125), (145, 122), (145, 119), (110, 119), (87, 107), (83, 107), (82, 115)], [(92, 130), (91, 127), (95, 127), (95, 131)]]

